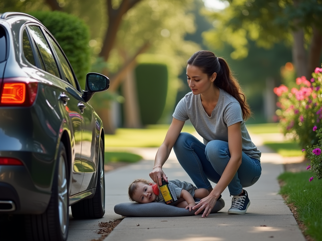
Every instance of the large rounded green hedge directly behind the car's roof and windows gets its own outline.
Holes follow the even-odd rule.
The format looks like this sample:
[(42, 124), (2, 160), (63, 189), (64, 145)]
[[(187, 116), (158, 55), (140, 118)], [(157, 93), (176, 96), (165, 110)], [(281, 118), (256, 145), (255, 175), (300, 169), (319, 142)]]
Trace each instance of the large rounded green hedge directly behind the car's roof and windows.
[(30, 14), (42, 22), (58, 41), (73, 67), (81, 88), (85, 89), (85, 78), (90, 68), (87, 25), (81, 19), (59, 11)]

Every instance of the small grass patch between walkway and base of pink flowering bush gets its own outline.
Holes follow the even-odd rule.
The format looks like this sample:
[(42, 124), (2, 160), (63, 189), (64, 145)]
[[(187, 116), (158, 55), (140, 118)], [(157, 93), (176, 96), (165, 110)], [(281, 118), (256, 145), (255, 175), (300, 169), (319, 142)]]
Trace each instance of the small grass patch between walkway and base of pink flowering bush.
[(302, 149), (295, 141), (284, 142), (264, 142), (265, 146), (270, 147), (281, 156), (304, 156)]

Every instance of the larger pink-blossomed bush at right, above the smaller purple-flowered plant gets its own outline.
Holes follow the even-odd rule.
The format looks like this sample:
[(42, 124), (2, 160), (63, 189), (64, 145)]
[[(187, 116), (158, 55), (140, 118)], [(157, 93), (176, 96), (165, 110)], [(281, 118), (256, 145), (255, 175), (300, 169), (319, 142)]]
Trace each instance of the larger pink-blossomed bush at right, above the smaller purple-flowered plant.
[(322, 127), (322, 68), (316, 68), (310, 81), (305, 76), (296, 79), (297, 88), (280, 85), (274, 88), (279, 97), (277, 115), (284, 135), (291, 133), (300, 146), (316, 145), (313, 128)]

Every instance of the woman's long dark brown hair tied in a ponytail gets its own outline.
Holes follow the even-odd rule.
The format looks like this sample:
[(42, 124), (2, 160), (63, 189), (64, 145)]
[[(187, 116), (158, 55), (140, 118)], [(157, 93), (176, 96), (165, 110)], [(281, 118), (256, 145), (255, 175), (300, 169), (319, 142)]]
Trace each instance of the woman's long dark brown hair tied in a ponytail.
[(246, 121), (251, 117), (251, 109), (246, 101), (245, 95), (237, 79), (232, 75), (227, 62), (223, 58), (218, 58), (213, 52), (200, 50), (195, 52), (187, 61), (187, 64), (197, 66), (208, 77), (217, 73), (213, 84), (231, 94), (242, 108), (243, 119)]

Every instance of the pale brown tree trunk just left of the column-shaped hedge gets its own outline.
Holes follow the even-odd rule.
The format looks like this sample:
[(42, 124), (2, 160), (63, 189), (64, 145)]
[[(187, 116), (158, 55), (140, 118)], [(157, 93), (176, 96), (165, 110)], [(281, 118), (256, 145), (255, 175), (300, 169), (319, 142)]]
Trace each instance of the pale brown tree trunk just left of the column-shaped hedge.
[(127, 72), (125, 81), (122, 85), (122, 93), (125, 98), (125, 103), (123, 104), (125, 127), (141, 128), (142, 123), (137, 99), (137, 86), (133, 69)]

